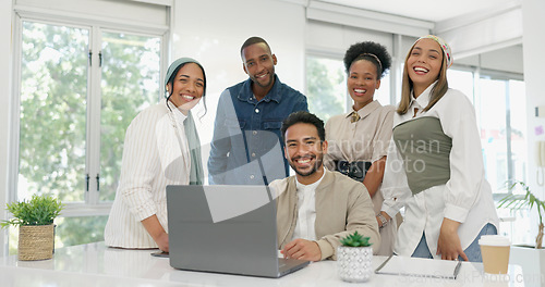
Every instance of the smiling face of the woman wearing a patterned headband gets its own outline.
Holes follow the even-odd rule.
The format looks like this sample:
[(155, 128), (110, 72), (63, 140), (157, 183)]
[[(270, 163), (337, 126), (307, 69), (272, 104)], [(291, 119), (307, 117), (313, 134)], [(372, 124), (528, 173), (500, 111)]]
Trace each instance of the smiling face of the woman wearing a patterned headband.
[(413, 83), (414, 96), (420, 96), (437, 80), (443, 65), (443, 50), (433, 39), (421, 39), (411, 50), (405, 68)]

